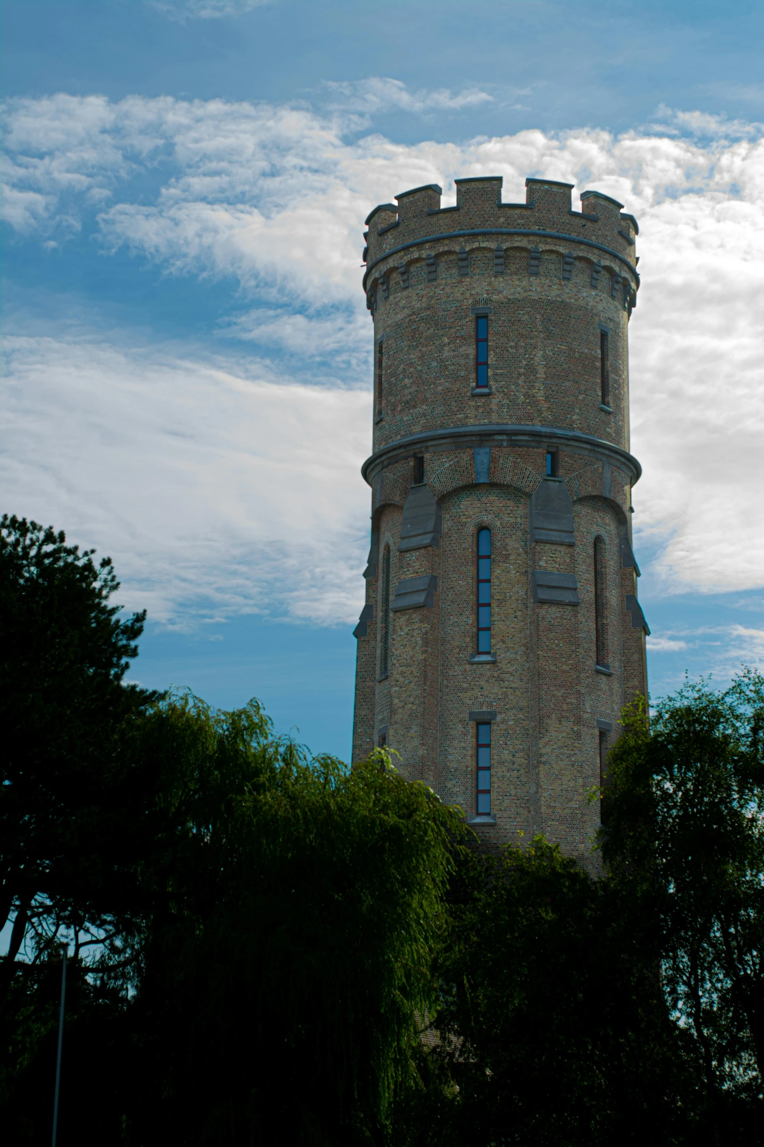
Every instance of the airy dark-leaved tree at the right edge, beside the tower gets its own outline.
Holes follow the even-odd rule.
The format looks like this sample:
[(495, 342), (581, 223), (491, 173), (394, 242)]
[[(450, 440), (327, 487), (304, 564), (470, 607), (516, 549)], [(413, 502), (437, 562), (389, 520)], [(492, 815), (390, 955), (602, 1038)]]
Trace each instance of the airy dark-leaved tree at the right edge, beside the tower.
[(652, 905), (669, 1005), (708, 1118), (728, 1134), (763, 1114), (764, 678), (743, 670), (722, 693), (686, 684), (649, 723), (638, 704), (623, 726), (602, 852)]

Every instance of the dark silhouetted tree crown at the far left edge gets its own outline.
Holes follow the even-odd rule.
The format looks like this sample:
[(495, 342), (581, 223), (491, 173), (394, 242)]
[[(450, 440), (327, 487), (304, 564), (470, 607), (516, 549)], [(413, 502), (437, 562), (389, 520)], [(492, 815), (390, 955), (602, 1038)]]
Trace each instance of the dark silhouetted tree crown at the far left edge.
[(126, 766), (119, 728), (153, 696), (123, 681), (144, 614), (120, 617), (111, 560), (93, 553), (0, 518), (0, 1014), (62, 926), (102, 938), (135, 890), (153, 786)]

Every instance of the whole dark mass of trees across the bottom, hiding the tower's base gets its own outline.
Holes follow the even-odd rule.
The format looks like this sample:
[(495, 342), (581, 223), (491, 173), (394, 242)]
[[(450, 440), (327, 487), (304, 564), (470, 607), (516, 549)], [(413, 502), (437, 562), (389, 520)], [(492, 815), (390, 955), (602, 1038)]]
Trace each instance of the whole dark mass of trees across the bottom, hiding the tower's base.
[(60, 929), (60, 1147), (761, 1139), (764, 679), (624, 712), (599, 857), (491, 855), (381, 751), (125, 685), (117, 588), (0, 520), (9, 1141), (49, 1142)]

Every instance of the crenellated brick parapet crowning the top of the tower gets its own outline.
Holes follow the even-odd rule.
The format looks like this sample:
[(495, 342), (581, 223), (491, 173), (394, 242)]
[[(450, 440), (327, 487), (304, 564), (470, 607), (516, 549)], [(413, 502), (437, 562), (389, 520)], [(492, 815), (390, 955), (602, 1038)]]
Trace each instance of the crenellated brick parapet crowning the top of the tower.
[(439, 236), (496, 232), (498, 243), (502, 233), (514, 231), (552, 233), (596, 244), (636, 268), (637, 220), (624, 213), (623, 204), (609, 195), (583, 192), (582, 210), (574, 211), (570, 203), (574, 185), (554, 179), (526, 179), (525, 203), (502, 203), (502, 175), (457, 179), (455, 184), (454, 206), (442, 208), (442, 189), (438, 184), (426, 184), (396, 195), (396, 205), (383, 203), (375, 208), (367, 218), (369, 229), (364, 234), (369, 270), (387, 253), (409, 244), (436, 241)]

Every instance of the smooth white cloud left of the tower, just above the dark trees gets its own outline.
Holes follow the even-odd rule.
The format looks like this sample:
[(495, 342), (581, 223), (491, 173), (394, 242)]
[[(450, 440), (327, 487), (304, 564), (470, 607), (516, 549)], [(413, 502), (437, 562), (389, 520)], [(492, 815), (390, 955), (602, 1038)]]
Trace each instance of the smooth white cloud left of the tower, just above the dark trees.
[(110, 553), (120, 599), (357, 617), (370, 396), (93, 340), (8, 340), (5, 507)]

